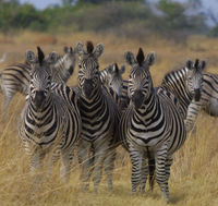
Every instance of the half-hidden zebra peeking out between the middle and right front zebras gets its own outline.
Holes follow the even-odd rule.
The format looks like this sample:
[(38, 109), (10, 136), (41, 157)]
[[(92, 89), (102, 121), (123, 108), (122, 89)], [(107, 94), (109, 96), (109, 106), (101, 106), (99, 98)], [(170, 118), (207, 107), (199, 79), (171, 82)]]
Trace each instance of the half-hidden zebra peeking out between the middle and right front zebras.
[(107, 66), (100, 71), (100, 81), (109, 90), (119, 105), (121, 111), (123, 111), (130, 99), (128, 97), (128, 81), (122, 78), (122, 74), (125, 72), (125, 66), (122, 65), (120, 69), (117, 63)]

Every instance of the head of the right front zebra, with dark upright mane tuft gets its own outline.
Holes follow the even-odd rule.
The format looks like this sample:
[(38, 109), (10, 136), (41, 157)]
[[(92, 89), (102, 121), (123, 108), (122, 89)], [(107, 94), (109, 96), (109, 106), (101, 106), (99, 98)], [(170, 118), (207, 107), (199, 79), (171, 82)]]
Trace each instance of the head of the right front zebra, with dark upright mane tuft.
[(155, 52), (148, 53), (145, 59), (144, 52), (140, 48), (135, 60), (134, 54), (126, 51), (125, 60), (132, 68), (129, 77), (129, 97), (135, 108), (138, 109), (154, 89), (149, 66), (155, 62)]

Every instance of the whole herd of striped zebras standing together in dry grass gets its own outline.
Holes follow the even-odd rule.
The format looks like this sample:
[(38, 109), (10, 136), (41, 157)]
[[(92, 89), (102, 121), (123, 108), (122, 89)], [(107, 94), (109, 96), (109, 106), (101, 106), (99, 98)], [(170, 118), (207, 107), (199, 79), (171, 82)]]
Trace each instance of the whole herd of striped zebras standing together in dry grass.
[[(3, 94), (2, 114), (16, 93), (26, 96), (19, 120), (19, 135), (31, 156), (31, 171), (40, 170), (48, 155), (47, 177), (61, 158), (60, 175), (70, 177), (75, 150), (81, 163), (82, 190), (87, 190), (93, 175), (98, 191), (102, 170), (112, 191), (112, 172), (118, 146), (123, 146), (132, 161), (132, 194), (145, 193), (149, 177), (158, 183), (169, 201), (168, 180), (172, 156), (185, 142), (197, 113), (205, 110), (218, 116), (218, 75), (204, 72), (205, 61), (189, 60), (179, 70), (165, 75), (154, 87), (149, 72), (155, 52), (146, 57), (124, 53), (130, 65), (129, 80), (122, 78), (125, 66), (117, 63), (99, 70), (104, 46), (87, 41), (84, 48), (64, 48), (45, 57), (26, 51), (25, 63), (11, 64), (0, 72)], [(77, 54), (76, 86), (66, 82), (74, 72)]]

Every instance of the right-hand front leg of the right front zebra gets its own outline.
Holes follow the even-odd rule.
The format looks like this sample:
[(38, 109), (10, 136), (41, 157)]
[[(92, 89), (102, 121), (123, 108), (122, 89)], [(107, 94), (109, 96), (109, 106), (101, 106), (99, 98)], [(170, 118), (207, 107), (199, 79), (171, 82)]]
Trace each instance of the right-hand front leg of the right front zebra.
[(169, 190), (168, 190), (168, 180), (166, 173), (166, 161), (167, 161), (167, 144), (164, 144), (161, 147), (156, 150), (156, 180), (162, 192), (162, 197), (169, 202)]

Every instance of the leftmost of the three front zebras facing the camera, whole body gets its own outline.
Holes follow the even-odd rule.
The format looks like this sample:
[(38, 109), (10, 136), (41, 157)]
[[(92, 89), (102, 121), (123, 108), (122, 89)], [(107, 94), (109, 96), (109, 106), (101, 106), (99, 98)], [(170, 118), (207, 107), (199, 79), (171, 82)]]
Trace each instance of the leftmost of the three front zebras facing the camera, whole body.
[(29, 63), (29, 90), (20, 116), (19, 135), (31, 156), (29, 167), (34, 172), (41, 169), (47, 154), (49, 177), (53, 163), (61, 155), (61, 179), (66, 182), (73, 159), (73, 146), (81, 133), (81, 117), (77, 96), (64, 84), (52, 83), (49, 64), (38, 47), (38, 58), (26, 52)]

